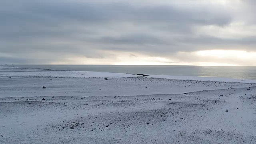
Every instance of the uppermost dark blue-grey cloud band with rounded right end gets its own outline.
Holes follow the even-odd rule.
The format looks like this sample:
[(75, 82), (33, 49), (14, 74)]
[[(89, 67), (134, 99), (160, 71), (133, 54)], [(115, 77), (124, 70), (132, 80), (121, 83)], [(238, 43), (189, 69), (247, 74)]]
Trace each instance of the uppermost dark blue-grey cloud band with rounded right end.
[[(11, 4), (10, 4), (11, 5)], [(224, 11), (222, 11), (224, 12)], [(175, 22), (188, 24), (226, 25), (231, 21), (228, 14), (206, 8), (180, 10), (174, 6), (131, 6), (129, 3), (82, 3), (82, 2), (24, 2), (22, 6), (1, 12), (0, 18), (9, 22), (86, 22), (110, 21)], [(48, 21), (53, 20), (53, 21)]]

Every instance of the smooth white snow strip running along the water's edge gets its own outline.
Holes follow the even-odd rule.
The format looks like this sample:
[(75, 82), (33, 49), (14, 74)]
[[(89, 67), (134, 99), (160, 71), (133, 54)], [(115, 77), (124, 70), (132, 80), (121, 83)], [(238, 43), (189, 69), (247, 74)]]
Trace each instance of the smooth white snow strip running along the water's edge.
[[(4, 67), (4, 66), (2, 66)], [(213, 82), (244, 82), (244, 83), (256, 83), (256, 80), (251, 79), (237, 79), (237, 78), (221, 78), (221, 77), (200, 77), (200, 76), (169, 76), (169, 75), (154, 75), (154, 74), (142, 74), (146, 76), (141, 76), (141, 74), (125, 74), (125, 73), (115, 73), (115, 72), (92, 72), (92, 71), (74, 71), (74, 70), (50, 70), (50, 69), (30, 69), (30, 68), (18, 68), (7, 66), (9, 68), (15, 69), (25, 69), (25, 70), (37, 70), (32, 72), (2, 72), (0, 71), (0, 77), (4, 76), (38, 76), (38, 77), (62, 77), (62, 78), (128, 78), (128, 77), (145, 77), (145, 78), (162, 78), (162, 79), (172, 79), (172, 80), (196, 80), (196, 81), (213, 81)], [(2, 68), (4, 69), (4, 68)], [(1, 70), (1, 67), (0, 67)], [(46, 71), (40, 71), (46, 70)], [(48, 70), (48, 71), (47, 71)]]

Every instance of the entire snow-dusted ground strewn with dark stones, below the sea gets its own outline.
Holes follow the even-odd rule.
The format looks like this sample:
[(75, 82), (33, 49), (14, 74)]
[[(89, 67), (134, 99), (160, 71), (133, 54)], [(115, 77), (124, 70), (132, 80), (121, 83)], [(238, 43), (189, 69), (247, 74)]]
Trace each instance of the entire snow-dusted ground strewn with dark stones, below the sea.
[(255, 144), (255, 100), (255, 80), (2, 66), (0, 144)]

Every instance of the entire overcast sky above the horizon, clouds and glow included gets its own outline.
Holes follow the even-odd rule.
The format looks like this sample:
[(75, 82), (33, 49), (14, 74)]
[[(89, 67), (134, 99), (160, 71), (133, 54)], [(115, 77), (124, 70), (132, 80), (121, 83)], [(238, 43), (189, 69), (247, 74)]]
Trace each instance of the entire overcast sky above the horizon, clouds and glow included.
[(1, 0), (0, 64), (256, 66), (256, 0)]

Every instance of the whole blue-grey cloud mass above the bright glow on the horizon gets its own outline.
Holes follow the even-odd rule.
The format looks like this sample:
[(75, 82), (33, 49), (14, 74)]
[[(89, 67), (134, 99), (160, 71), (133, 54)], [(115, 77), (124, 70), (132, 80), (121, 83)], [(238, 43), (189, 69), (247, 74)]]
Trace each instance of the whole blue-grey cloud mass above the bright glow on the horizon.
[[(54, 62), (69, 55), (106, 57), (98, 50), (166, 56), (178, 51), (208, 49), (207, 45), (211, 45), (210, 48), (255, 46), (255, 36), (240, 39), (195, 36), (200, 26), (225, 28), (232, 21), (233, 15), (226, 7), (211, 4), (183, 8), (182, 5), (143, 5), (129, 1), (8, 0), (0, 2), (0, 54), (26, 55), (28, 59), (20, 62), (30, 63), (35, 61), (27, 54), (40, 53), (41, 59)], [(12, 59), (1, 55), (0, 58)]]

